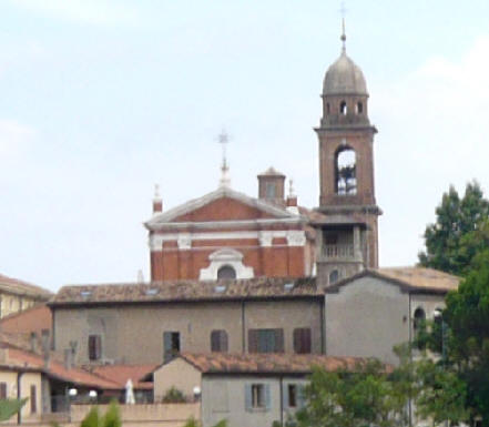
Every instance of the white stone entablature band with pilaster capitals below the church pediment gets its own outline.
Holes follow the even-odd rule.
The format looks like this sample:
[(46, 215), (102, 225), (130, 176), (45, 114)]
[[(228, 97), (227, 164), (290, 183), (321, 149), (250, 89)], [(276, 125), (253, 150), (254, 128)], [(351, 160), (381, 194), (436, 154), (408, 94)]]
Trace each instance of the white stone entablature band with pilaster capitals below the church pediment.
[(243, 232), (211, 232), (211, 233), (167, 233), (150, 236), (151, 251), (162, 251), (164, 242), (177, 242), (179, 248), (190, 250), (192, 241), (214, 240), (259, 240), (261, 246), (272, 246), (274, 238), (287, 238), (288, 246), (304, 246), (306, 233), (303, 230), (243, 231)]

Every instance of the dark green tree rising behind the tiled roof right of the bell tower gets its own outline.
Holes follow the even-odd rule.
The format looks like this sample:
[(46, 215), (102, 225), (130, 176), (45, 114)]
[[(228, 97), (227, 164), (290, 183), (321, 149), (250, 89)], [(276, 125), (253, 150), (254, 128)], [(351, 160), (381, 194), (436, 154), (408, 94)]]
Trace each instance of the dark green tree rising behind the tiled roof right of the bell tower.
[(488, 215), (489, 201), (477, 182), (467, 184), (463, 197), (450, 186), (436, 209), (435, 224), (425, 230), (426, 251), (418, 254), (420, 265), (466, 274), (473, 256), (489, 247)]

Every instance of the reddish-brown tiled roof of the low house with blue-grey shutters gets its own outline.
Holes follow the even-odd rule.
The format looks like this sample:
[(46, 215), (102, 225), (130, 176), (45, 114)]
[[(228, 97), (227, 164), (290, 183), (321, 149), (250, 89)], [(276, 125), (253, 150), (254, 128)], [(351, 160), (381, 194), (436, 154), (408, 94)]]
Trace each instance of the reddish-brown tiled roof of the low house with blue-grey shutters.
[(295, 354), (192, 354), (182, 353), (183, 358), (200, 372), (228, 374), (308, 374), (314, 366), (326, 370), (355, 369), (366, 362), (359, 357), (334, 357), (325, 355)]

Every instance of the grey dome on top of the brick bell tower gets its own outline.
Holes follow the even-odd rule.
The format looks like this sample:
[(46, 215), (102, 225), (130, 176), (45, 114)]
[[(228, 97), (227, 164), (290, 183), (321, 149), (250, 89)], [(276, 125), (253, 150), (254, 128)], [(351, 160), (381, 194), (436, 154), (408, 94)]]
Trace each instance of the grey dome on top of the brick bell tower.
[(343, 51), (342, 55), (326, 72), (323, 94), (368, 95), (364, 73), (359, 67), (346, 55), (345, 51)]

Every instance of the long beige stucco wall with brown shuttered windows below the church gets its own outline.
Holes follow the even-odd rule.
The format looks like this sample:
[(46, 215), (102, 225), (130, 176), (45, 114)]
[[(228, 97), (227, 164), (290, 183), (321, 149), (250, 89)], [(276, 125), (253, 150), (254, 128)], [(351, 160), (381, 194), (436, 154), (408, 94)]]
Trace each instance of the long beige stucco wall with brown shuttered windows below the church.
[[(126, 364), (161, 363), (165, 331), (180, 332), (182, 352), (205, 353), (211, 350), (211, 332), (225, 329), (228, 352), (242, 353), (244, 317), (246, 328), (283, 327), (287, 353), (293, 348), (293, 329), (310, 327), (313, 352), (320, 353), (320, 299), (246, 302), (244, 316), (238, 302), (58, 308), (55, 349), (62, 352), (69, 348), (70, 340), (78, 340), (75, 362), (88, 364), (88, 337), (101, 334), (104, 359)], [(245, 337), (247, 340), (247, 331)]]

